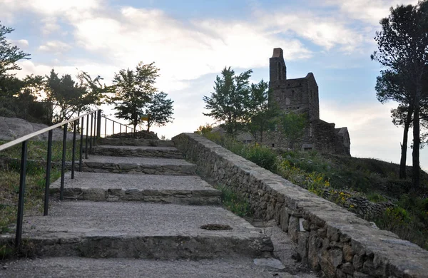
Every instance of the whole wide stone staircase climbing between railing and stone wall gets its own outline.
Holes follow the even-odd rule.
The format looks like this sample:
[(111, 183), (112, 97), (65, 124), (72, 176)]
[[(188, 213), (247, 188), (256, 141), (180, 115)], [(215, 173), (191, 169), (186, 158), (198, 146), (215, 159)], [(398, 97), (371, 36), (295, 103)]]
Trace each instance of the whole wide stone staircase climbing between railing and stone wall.
[(24, 217), (24, 248), (38, 259), (0, 277), (292, 277), (263, 229), (220, 207), (172, 142), (99, 144), (66, 175), (64, 201), (51, 185), (49, 216)]

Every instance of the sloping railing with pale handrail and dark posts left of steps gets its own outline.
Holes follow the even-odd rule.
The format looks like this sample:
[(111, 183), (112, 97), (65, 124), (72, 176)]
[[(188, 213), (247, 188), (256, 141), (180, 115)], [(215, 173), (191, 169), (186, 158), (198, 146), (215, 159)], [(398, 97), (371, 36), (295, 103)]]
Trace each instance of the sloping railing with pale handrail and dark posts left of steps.
[[(84, 127), (84, 120), (86, 117), (86, 128)], [(91, 125), (89, 126), (89, 118), (91, 118)], [(98, 119), (98, 122), (97, 122)], [(21, 138), (13, 140), (8, 143), (0, 145), (0, 151), (11, 148), (14, 145), (22, 144), (21, 148), (21, 168), (19, 173), (19, 198), (18, 198), (18, 215), (16, 218), (16, 237), (15, 246), (18, 248), (21, 245), (22, 237), (22, 223), (24, 217), (24, 195), (26, 185), (26, 166), (27, 166), (27, 147), (28, 142), (31, 138), (43, 133), (48, 133), (48, 146), (47, 146), (47, 157), (46, 157), (46, 181), (45, 181), (45, 194), (44, 194), (44, 215), (48, 215), (49, 210), (49, 186), (51, 183), (51, 160), (52, 160), (52, 135), (54, 129), (63, 127), (63, 148), (62, 148), (62, 160), (61, 160), (61, 187), (60, 187), (60, 200), (63, 200), (64, 190), (64, 176), (66, 168), (66, 141), (67, 141), (67, 129), (68, 124), (73, 123), (73, 148), (72, 148), (72, 161), (71, 161), (71, 178), (74, 178), (75, 171), (75, 160), (76, 160), (76, 133), (79, 129), (81, 130), (81, 142), (79, 146), (79, 165), (78, 170), (82, 170), (82, 156), (83, 156), (83, 131), (86, 131), (85, 138), (85, 157), (88, 158), (88, 153), (92, 153), (92, 146), (95, 145), (96, 138), (100, 137), (99, 130), (101, 130), (101, 110), (94, 110), (83, 115), (79, 115), (71, 120), (63, 121), (56, 125), (52, 125), (48, 128), (36, 131), (29, 135), (25, 135)], [(98, 131), (98, 132), (96, 132)], [(90, 148), (88, 149), (88, 143)]]

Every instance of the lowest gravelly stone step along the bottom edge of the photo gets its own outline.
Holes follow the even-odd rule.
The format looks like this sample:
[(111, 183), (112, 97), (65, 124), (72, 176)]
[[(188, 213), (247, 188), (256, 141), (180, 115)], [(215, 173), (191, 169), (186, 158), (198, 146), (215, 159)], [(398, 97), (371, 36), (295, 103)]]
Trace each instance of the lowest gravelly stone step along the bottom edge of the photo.
[[(51, 257), (21, 259), (12, 264), (4, 262), (2, 268), (0, 277), (296, 277), (285, 272), (280, 261), (273, 258), (159, 261), (126, 258)], [(75, 276), (75, 274), (78, 275)], [(315, 275), (299, 275), (298, 277), (312, 278)]]

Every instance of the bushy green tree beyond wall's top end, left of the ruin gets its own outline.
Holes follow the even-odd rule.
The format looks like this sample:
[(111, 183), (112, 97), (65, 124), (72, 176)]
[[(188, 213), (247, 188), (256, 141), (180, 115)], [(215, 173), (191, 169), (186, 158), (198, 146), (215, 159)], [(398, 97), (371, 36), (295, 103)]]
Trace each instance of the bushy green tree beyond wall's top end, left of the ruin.
[(226, 132), (235, 135), (248, 120), (248, 102), (250, 97), (250, 85), (248, 79), (253, 71), (245, 71), (235, 76), (235, 71), (224, 68), (221, 77), (215, 78), (214, 92), (211, 96), (203, 96), (205, 109), (210, 113), (203, 113), (216, 120), (225, 122)]

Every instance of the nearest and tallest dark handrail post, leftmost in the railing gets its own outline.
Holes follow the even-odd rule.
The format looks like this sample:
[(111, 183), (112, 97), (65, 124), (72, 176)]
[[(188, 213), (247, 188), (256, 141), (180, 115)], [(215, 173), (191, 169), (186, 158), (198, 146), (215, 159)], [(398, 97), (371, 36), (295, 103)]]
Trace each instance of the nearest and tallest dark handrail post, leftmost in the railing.
[(26, 158), (27, 158), (27, 142), (22, 142), (21, 149), (21, 173), (19, 173), (19, 199), (18, 199), (18, 217), (16, 217), (16, 237), (15, 247), (19, 248), (22, 237), (22, 220), (24, 218), (24, 195), (25, 195), (25, 178), (26, 178)]

